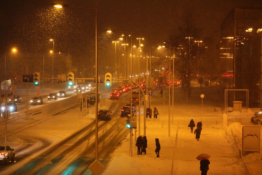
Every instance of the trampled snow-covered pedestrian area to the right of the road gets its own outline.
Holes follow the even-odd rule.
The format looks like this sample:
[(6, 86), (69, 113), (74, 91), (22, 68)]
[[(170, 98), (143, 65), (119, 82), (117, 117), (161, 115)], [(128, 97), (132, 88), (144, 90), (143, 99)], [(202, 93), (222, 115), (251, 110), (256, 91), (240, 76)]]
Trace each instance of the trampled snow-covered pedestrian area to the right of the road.
[[(245, 110), (229, 112), (226, 129), (228, 135), (226, 135), (223, 129), (222, 111), (214, 112), (214, 108), (217, 108), (217, 106), (205, 105), (204, 102), (202, 112), (200, 96), (199, 101), (195, 104), (177, 104), (175, 100), (173, 124), (172, 114), (170, 115), (169, 136), (167, 100), (168, 96), (166, 95), (164, 112), (163, 97), (159, 95), (153, 97), (151, 107), (157, 107), (160, 115), (159, 120), (146, 119), (148, 140), (146, 155), (144, 153), (137, 155), (137, 148), (134, 146), (136, 143), (134, 140), (135, 133), (133, 132), (132, 157), (129, 156), (130, 138), (128, 135), (121, 147), (115, 150), (112, 161), (102, 174), (201, 174), (200, 161), (196, 159), (201, 153), (207, 153), (211, 156), (208, 174), (261, 174), (261, 154), (252, 153), (242, 157), (242, 160), (244, 158), (247, 164), (248, 173), (246, 173), (247, 170), (245, 170), (243, 161), (239, 156), (239, 149), (242, 146), (242, 126), (258, 126), (252, 124), (250, 118), (253, 116), (253, 112), (259, 109), (249, 109), (248, 112)], [(195, 135), (190, 132), (188, 127), (191, 119), (195, 123), (202, 121), (203, 130), (199, 141), (194, 139)], [(141, 135), (144, 135), (143, 126), (144, 122), (141, 120)], [(138, 136), (138, 134), (136, 135)], [(158, 138), (161, 144), (159, 158), (156, 157), (154, 152), (156, 149), (155, 138)]]

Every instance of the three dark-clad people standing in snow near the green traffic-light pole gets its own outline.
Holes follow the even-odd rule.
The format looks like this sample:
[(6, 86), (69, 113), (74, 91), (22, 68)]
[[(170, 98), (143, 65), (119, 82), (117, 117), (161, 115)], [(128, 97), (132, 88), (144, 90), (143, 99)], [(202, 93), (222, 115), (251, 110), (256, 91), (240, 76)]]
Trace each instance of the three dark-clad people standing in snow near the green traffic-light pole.
[[(155, 153), (157, 154), (157, 157), (159, 157), (159, 152), (160, 152), (160, 142), (158, 138), (155, 138), (156, 142), (156, 149)], [(146, 136), (138, 136), (137, 137), (137, 155), (141, 155), (142, 153), (146, 154), (146, 148), (147, 148), (147, 139)]]

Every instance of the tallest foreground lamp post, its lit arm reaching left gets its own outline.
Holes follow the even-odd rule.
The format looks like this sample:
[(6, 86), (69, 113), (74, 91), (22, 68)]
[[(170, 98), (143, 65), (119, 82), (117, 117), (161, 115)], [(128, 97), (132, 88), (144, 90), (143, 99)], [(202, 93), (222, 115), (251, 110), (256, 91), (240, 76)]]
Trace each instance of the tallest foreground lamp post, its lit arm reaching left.
[(97, 75), (98, 75), (98, 66), (97, 66), (97, 10), (100, 10), (100, 9), (94, 9), (94, 8), (86, 8), (86, 7), (75, 7), (75, 6), (69, 6), (67, 4), (52, 4), (53, 6), (55, 7), (58, 7), (58, 8), (63, 8), (63, 7), (71, 7), (71, 8), (77, 8), (77, 9), (86, 9), (86, 10), (95, 10), (96, 12), (96, 16), (95, 16), (95, 28), (96, 28), (96, 31), (95, 31), (95, 35), (96, 35), (96, 140), (95, 140), (95, 154), (96, 154), (96, 160), (98, 160), (98, 117), (97, 117), (97, 112), (98, 112), (98, 101), (97, 101), (97, 96), (98, 96), (98, 78), (97, 78)]

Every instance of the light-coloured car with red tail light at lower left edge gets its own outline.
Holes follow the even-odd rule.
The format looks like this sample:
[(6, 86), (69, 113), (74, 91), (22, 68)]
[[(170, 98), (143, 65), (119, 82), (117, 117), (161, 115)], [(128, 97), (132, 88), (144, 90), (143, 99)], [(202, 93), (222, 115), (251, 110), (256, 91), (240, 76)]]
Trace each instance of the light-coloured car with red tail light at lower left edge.
[(8, 145), (0, 145), (0, 161), (2, 161), (2, 163), (8, 164), (10, 160), (14, 162), (14, 157), (14, 149)]

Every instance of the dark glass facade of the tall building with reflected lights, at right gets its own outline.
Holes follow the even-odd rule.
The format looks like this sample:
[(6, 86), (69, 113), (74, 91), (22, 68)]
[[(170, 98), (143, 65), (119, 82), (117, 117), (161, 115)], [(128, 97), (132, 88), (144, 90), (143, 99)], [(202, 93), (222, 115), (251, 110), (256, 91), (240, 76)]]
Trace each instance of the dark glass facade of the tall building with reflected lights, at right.
[(261, 36), (262, 8), (234, 8), (221, 24), (220, 59), (225, 74), (234, 88), (249, 90), (251, 107), (261, 107), (262, 101)]

